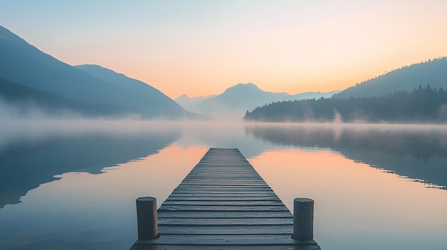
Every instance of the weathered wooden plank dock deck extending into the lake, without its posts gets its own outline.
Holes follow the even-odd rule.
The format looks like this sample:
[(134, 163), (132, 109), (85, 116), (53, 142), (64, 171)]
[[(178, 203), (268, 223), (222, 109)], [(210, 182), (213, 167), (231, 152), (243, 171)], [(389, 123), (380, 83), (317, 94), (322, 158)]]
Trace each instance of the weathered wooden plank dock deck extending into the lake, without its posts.
[(320, 249), (291, 238), (291, 212), (237, 149), (206, 152), (157, 214), (159, 238), (131, 250)]

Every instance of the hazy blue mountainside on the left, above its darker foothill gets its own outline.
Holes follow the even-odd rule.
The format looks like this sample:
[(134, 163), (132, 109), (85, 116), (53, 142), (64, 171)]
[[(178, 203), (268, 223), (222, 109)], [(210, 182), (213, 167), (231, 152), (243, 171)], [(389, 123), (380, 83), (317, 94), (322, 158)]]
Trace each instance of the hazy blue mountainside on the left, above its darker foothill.
[[(29, 95), (39, 92), (39, 95), (51, 94), (64, 99), (64, 102), (71, 102), (74, 111), (83, 110), (81, 106), (86, 105), (99, 107), (97, 110), (107, 107), (108, 112), (104, 115), (136, 114), (142, 118), (169, 119), (195, 117), (146, 83), (100, 66), (70, 66), (39, 51), (2, 26), (0, 55), (0, 78), (28, 87)], [(28, 98), (33, 99), (31, 96)]]

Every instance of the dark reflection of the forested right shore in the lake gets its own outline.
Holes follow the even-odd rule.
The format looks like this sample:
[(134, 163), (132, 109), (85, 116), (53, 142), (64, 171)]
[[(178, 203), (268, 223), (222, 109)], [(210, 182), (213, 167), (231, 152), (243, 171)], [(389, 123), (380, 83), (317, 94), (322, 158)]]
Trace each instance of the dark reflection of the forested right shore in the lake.
[(280, 145), (331, 147), (349, 159), (412, 179), (447, 186), (446, 130), (336, 125), (248, 125), (253, 136)]

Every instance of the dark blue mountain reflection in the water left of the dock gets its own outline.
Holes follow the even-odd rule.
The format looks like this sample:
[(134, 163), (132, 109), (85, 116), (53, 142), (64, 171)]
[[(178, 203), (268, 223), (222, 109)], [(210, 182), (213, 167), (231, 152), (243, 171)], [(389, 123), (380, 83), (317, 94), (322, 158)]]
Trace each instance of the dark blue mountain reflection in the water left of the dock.
[(15, 140), (0, 148), (0, 208), (65, 172), (101, 173), (104, 167), (156, 154), (180, 132), (84, 133)]

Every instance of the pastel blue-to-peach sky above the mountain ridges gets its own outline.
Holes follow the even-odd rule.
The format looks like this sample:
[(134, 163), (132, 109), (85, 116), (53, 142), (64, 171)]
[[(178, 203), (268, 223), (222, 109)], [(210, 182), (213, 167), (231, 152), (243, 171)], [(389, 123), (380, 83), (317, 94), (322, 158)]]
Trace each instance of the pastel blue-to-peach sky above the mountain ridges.
[(445, 0), (0, 0), (0, 25), (171, 98), (344, 89), (447, 56)]

